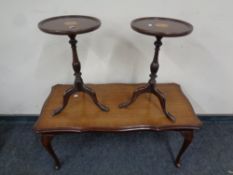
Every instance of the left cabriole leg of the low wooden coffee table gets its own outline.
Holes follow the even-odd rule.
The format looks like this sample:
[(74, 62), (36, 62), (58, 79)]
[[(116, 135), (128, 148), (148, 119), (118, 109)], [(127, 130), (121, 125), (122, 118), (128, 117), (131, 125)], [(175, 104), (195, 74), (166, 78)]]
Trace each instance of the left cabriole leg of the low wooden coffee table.
[(51, 145), (51, 141), (53, 139), (54, 135), (50, 135), (50, 134), (42, 134), (41, 135), (41, 143), (44, 146), (44, 148), (46, 149), (46, 151), (52, 156), (53, 161), (54, 161), (54, 165), (55, 165), (55, 169), (58, 170), (61, 167), (60, 161), (57, 157), (57, 155), (55, 154), (53, 147)]

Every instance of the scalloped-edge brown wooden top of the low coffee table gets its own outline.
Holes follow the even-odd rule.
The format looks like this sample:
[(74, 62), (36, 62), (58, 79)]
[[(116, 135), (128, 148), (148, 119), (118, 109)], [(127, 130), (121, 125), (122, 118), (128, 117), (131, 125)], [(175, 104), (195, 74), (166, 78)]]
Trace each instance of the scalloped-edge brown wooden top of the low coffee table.
[(128, 131), (128, 130), (193, 130), (202, 125), (179, 85), (158, 84), (157, 88), (167, 98), (168, 110), (176, 116), (171, 122), (161, 110), (159, 100), (152, 94), (142, 94), (131, 106), (119, 109), (118, 104), (131, 96), (142, 84), (90, 85), (99, 99), (110, 107), (109, 112), (100, 111), (84, 93), (69, 100), (67, 108), (52, 116), (53, 109), (62, 103), (62, 94), (71, 85), (56, 85), (52, 88), (40, 118), (34, 126), (37, 133)]

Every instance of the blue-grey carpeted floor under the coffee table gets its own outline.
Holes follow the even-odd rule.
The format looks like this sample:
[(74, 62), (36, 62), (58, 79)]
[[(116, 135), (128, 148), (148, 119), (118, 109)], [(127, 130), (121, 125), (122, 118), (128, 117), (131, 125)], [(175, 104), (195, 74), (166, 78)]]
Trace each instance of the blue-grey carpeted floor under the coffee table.
[(233, 122), (205, 122), (179, 169), (178, 133), (140, 131), (57, 136), (62, 167), (56, 171), (32, 126), (0, 123), (0, 175), (233, 175)]

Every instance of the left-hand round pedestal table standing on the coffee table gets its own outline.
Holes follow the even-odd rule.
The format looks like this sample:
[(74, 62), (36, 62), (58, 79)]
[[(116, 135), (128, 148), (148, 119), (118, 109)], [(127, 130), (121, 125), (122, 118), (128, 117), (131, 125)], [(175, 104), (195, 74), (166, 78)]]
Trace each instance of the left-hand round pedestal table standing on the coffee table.
[(49, 19), (45, 19), (38, 24), (38, 27), (46, 33), (56, 34), (56, 35), (68, 35), (70, 38), (69, 43), (71, 44), (72, 54), (73, 54), (73, 69), (75, 81), (73, 87), (67, 89), (63, 95), (62, 105), (56, 108), (53, 112), (53, 115), (57, 115), (63, 111), (63, 109), (68, 104), (69, 98), (76, 92), (87, 93), (93, 102), (102, 110), (109, 111), (109, 108), (101, 104), (96, 96), (95, 91), (87, 87), (83, 83), (82, 73), (81, 73), (81, 64), (78, 58), (76, 44), (77, 40), (75, 39), (77, 34), (91, 32), (100, 27), (100, 20), (94, 17), (89, 16), (59, 16)]

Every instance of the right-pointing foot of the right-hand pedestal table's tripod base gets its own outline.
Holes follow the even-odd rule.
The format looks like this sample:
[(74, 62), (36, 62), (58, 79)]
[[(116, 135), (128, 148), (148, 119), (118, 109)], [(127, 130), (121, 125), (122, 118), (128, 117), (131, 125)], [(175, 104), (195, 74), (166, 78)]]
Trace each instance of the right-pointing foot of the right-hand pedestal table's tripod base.
[(156, 89), (156, 88), (153, 88), (152, 93), (159, 99), (163, 113), (166, 115), (166, 117), (172, 122), (175, 122), (176, 118), (170, 112), (167, 112), (166, 98), (164, 97), (163, 93), (159, 89)]

